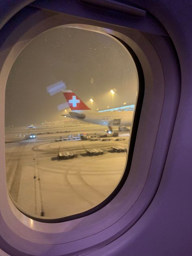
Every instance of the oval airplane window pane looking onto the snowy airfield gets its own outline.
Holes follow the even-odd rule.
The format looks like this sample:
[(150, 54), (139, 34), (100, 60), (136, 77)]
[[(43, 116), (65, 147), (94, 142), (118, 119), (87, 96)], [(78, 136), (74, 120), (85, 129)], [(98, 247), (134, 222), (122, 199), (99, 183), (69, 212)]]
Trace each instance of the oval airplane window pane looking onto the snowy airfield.
[(139, 88), (128, 49), (109, 34), (60, 26), (34, 38), (6, 84), (9, 195), (24, 214), (93, 209), (127, 164)]

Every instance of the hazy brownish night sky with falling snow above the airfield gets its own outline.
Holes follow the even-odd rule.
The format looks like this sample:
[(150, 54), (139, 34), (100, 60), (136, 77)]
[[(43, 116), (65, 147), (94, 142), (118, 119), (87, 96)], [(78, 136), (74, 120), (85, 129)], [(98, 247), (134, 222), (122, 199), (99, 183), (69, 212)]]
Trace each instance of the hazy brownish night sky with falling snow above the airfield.
[[(61, 121), (63, 94), (46, 88), (64, 81), (93, 109), (134, 103), (137, 69), (115, 38), (89, 30), (58, 27), (34, 38), (18, 55), (6, 85), (5, 126)], [(115, 88), (114, 100), (110, 90)], [(94, 102), (91, 105), (90, 98)]]

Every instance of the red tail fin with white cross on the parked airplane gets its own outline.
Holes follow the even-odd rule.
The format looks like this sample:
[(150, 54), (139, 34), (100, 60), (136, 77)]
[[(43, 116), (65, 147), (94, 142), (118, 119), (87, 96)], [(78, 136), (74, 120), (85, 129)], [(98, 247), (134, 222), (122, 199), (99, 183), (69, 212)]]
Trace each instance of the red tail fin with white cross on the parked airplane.
[(85, 103), (75, 95), (74, 92), (71, 90), (64, 90), (63, 91), (64, 97), (66, 98), (66, 101), (68, 102), (68, 105), (71, 110), (88, 110), (90, 109), (85, 105)]

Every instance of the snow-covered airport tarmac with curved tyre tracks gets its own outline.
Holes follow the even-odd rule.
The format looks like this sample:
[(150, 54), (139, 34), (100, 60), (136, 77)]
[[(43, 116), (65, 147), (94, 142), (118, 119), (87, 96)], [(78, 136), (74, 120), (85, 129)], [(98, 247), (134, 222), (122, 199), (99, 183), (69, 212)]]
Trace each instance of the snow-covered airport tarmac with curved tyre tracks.
[[(94, 130), (99, 128), (95, 126)], [(104, 150), (127, 147), (128, 137), (125, 141), (54, 142), (52, 134), (47, 136), (47, 140), (6, 143), (7, 184), (19, 209), (34, 217), (62, 218), (93, 208), (113, 192), (124, 173), (126, 152), (81, 156), (85, 153), (83, 146)], [(77, 151), (78, 157), (52, 161), (58, 148)]]

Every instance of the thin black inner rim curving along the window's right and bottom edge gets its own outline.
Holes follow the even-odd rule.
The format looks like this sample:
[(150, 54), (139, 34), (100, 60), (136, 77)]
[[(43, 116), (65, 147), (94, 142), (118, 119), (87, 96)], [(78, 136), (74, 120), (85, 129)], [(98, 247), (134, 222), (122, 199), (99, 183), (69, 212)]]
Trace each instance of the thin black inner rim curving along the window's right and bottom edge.
[[(90, 29), (90, 28), (85, 29), (85, 28), (81, 28), (81, 26), (79, 26), (77, 24), (75, 26), (63, 25), (63, 26), (57, 26), (54, 28), (56, 28), (56, 29), (58, 29), (58, 28), (78, 28), (78, 29), (82, 29), (82, 30), (93, 31), (93, 32), (104, 34), (104, 31), (98, 32), (97, 30), (93, 30), (94, 29), (93, 26), (92, 26), (92, 29)], [(44, 32), (46, 32), (46, 31), (49, 31), (49, 30), (45, 30)], [(30, 215), (29, 213), (26, 213), (21, 207), (19, 207), (19, 205), (17, 205), (17, 203), (15, 203), (13, 201), (13, 204), (15, 205), (15, 207), (17, 207), (17, 209), (19, 209), (19, 211), (21, 211), (21, 213), (26, 215), (28, 218), (31, 218), (32, 220), (46, 222), (46, 223), (59, 223), (59, 222), (65, 222), (65, 221), (69, 221), (69, 220), (75, 220), (77, 218), (83, 218), (87, 215), (90, 215), (90, 214), (100, 210), (105, 205), (107, 205), (118, 194), (118, 192), (121, 190), (122, 186), (126, 182), (126, 179), (128, 178), (128, 174), (129, 174), (130, 166), (131, 166), (131, 162), (132, 162), (132, 155), (133, 155), (133, 151), (134, 151), (134, 143), (135, 143), (135, 139), (136, 139), (136, 135), (137, 135), (137, 128), (139, 125), (139, 117), (140, 117), (140, 113), (141, 113), (143, 95), (144, 95), (145, 85), (144, 85), (143, 70), (141, 68), (139, 59), (137, 58), (137, 55), (124, 41), (120, 40), (115, 35), (111, 36), (109, 34), (106, 34), (106, 36), (110, 36), (111, 38), (114, 38), (115, 41), (116, 40), (119, 41), (119, 43), (121, 43), (122, 46), (127, 49), (128, 53), (132, 57), (132, 60), (134, 61), (135, 67), (137, 69), (138, 80), (139, 80), (138, 89), (137, 89), (138, 93), (137, 93), (137, 97), (136, 97), (136, 103), (135, 103), (135, 109), (134, 109), (134, 115), (133, 115), (133, 124), (132, 124), (131, 130), (130, 130), (130, 141), (128, 141), (128, 154), (126, 156), (126, 166), (124, 168), (122, 178), (120, 179), (120, 181), (117, 184), (117, 186), (115, 187), (115, 189), (111, 192), (111, 194), (109, 194), (109, 196), (107, 196), (107, 198), (105, 198), (105, 200), (103, 200), (101, 203), (99, 203), (98, 205), (96, 205), (95, 207), (92, 207), (91, 209), (89, 209), (87, 211), (83, 211), (81, 213), (76, 213), (76, 214), (69, 215), (69, 216), (62, 217), (62, 218), (50, 218), (47, 216), (46, 217), (41, 217), (41, 216), (36, 217), (34, 215)], [(28, 44), (30, 44), (30, 43), (31, 43), (31, 41), (28, 42)], [(25, 47), (23, 48), (23, 50), (24, 49), (25, 49)], [(139, 102), (138, 105), (137, 105), (137, 102)], [(11, 197), (11, 195), (10, 195), (10, 197)]]

